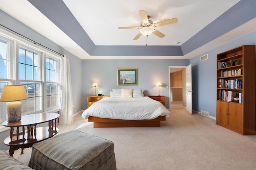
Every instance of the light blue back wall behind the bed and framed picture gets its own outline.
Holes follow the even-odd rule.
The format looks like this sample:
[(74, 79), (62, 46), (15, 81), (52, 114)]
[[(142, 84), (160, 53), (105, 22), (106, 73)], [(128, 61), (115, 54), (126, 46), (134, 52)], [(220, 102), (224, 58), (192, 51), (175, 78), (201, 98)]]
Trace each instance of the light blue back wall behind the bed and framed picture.
[[(105, 96), (113, 88), (142, 88), (145, 95), (158, 95), (157, 82), (161, 82), (160, 95), (166, 96), (169, 108), (169, 66), (187, 66), (189, 60), (82, 60), (82, 109), (87, 108), (87, 96), (94, 96), (96, 82)], [(138, 68), (138, 86), (117, 86), (117, 68)]]

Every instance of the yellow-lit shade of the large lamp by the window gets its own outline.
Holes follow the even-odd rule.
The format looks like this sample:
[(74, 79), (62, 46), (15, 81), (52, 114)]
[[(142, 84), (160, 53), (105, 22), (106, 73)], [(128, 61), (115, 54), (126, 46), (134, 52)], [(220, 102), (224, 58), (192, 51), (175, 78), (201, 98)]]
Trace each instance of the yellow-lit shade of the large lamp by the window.
[(0, 102), (13, 102), (28, 99), (23, 85), (4, 86)]

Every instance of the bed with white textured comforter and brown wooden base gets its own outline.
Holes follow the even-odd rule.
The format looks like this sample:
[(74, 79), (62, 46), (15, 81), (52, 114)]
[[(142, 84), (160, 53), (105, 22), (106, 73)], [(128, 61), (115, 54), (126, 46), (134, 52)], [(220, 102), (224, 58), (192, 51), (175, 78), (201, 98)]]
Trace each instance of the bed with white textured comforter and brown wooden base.
[(156, 127), (170, 115), (166, 107), (149, 97), (134, 93), (115, 96), (114, 89), (110, 96), (92, 104), (82, 117), (94, 122), (94, 127)]

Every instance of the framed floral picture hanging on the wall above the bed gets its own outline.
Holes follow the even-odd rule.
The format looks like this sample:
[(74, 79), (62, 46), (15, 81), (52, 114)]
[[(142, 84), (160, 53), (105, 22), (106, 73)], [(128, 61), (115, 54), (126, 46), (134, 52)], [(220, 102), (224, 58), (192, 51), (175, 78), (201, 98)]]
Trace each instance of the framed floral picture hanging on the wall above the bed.
[(138, 68), (117, 68), (118, 86), (138, 86)]

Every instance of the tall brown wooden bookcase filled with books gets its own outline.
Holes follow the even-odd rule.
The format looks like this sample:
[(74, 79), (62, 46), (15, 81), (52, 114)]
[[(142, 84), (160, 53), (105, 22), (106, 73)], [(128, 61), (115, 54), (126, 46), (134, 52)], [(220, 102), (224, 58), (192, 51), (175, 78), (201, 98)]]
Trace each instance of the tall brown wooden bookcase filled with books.
[(255, 63), (255, 45), (217, 54), (216, 124), (242, 135), (256, 135)]

